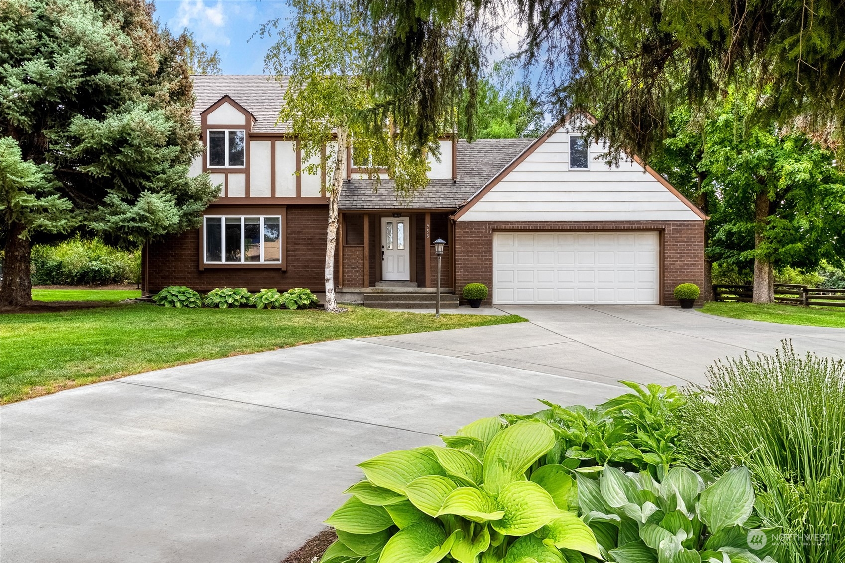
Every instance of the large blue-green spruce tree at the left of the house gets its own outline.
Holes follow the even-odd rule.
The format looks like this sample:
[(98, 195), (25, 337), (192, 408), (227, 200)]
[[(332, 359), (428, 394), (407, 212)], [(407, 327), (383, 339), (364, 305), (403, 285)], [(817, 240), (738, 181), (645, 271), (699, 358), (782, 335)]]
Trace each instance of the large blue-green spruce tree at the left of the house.
[(4, 0), (0, 303), (31, 299), (31, 244), (81, 232), (137, 247), (199, 226), (216, 197), (183, 46), (143, 0)]

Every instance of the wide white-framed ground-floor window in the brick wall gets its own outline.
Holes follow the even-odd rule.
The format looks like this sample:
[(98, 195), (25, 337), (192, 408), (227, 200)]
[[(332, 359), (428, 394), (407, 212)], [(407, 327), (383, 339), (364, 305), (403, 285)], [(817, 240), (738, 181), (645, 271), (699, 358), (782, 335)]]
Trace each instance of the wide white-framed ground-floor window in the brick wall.
[(205, 264), (280, 264), (281, 216), (204, 216)]

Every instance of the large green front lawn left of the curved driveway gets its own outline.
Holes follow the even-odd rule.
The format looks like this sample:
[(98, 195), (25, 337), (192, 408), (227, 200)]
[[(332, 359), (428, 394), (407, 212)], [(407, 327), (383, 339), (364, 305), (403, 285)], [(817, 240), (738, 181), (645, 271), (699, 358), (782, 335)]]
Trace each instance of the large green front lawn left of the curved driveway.
[[(0, 315), (0, 402), (180, 363), (358, 336), (524, 321), (486, 314), (343, 314), (287, 309), (166, 309), (134, 303), (61, 313)], [(237, 374), (232, 374), (237, 376)]]

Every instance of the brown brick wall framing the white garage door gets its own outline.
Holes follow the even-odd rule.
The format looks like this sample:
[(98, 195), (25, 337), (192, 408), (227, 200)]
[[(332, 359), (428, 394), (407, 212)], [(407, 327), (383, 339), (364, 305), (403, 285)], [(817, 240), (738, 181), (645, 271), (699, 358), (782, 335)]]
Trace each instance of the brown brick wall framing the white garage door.
[(704, 287), (704, 221), (455, 221), (455, 292), (483, 283), (490, 288), (486, 305), (493, 303), (494, 231), (661, 231), (661, 303), (677, 304), (679, 283)]

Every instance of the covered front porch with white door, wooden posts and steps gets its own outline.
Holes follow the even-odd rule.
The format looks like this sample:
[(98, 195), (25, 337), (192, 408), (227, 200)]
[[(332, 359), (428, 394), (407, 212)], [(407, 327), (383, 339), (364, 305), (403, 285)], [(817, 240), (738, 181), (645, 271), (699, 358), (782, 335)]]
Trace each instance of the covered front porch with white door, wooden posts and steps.
[[(453, 212), (452, 209), (341, 210), (339, 298), (352, 303), (427, 302), (429, 295), (433, 298), (437, 285), (433, 242), (438, 238), (446, 242), (441, 259), (441, 291), (453, 293), (455, 230), (449, 218)], [(412, 294), (414, 297), (410, 298)]]

